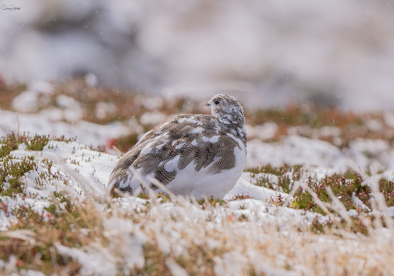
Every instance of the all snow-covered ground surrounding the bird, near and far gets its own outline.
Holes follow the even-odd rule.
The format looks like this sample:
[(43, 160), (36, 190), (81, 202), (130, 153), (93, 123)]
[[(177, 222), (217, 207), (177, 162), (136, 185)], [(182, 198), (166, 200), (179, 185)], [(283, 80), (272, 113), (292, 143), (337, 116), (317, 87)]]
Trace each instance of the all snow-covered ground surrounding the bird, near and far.
[[(62, 201), (65, 192), (72, 197), (74, 205), (89, 207), (89, 216), (96, 216), (100, 221), (99, 225), (91, 225), (92, 229), (80, 229), (70, 224), (68, 231), (78, 231), (78, 237), (88, 238), (89, 233), (100, 228), (106, 240), (100, 242), (96, 237), (83, 246), (78, 243), (66, 246), (59, 240), (52, 240), (53, 252), (82, 265), (78, 269), (80, 275), (145, 273), (141, 271), (145, 268), (150, 271), (154, 267), (153, 257), (147, 257), (150, 256), (147, 250), (162, 254), (161, 265), (174, 276), (188, 275), (184, 267), (189, 272), (193, 269), (195, 275), (216, 276), (250, 275), (252, 270), (257, 275), (392, 273), (394, 223), (391, 223), (391, 217), (394, 207), (387, 208), (379, 201), (379, 193), (374, 192), (376, 205), (371, 208), (353, 195), (351, 201), (357, 210), (347, 210), (335, 200), (322, 203), (315, 198), (322, 210), (327, 207), (336, 210), (332, 213), (324, 211), (327, 215), (323, 215), (307, 208), (285, 207), (287, 204), (282, 203), (292, 203), (295, 190), (284, 192), (279, 185), (279, 176), (243, 172), (234, 188), (223, 198), (223, 205), (216, 201), (198, 204), (193, 199), (173, 195), (167, 200), (150, 190), (145, 191), (150, 199), (137, 197), (137, 194), (112, 199), (107, 181), (119, 156), (115, 151), (109, 154), (91, 150), (89, 145), (108, 145), (122, 136), (142, 135), (143, 126), (160, 124), (169, 116), (170, 113), (158, 111), (165, 101), (159, 97), (136, 96), (134, 103), (149, 108), (123, 123), (100, 125), (82, 120), (86, 110), (80, 102), (65, 94), (56, 94), (53, 97), (56, 104), (39, 109), (53, 89), (49, 83), (30, 83), (26, 91), (13, 99), (11, 108), (15, 112), (0, 110), (2, 136), (11, 131), (25, 131), (31, 136), (37, 133), (77, 137), (76, 141), (68, 143), (50, 140), (40, 151), (28, 150), (20, 144), (17, 150), (10, 152), (9, 156), (13, 157), (8, 162), (15, 164), (32, 156), (37, 166), (19, 179), (25, 185), (26, 196), (0, 197), (2, 235), (39, 244), (38, 232), (9, 230), (16, 227), (19, 210), (25, 207), (39, 214), (45, 222), (54, 221), (54, 216), (71, 204), (70, 201), (58, 202), (55, 212), (48, 211), (54, 202)], [(95, 116), (104, 118), (111, 108), (111, 102), (100, 101)], [(365, 120), (363, 130), (373, 132), (375, 137), (378, 131), (392, 131), (393, 118), (392, 113), (385, 113), (383, 120)], [(346, 128), (336, 126), (287, 126), (287, 132), (280, 135), (281, 126), (275, 122), (247, 125), (246, 128), (247, 167), (302, 165), (299, 180), (292, 181), (290, 189), (298, 186), (308, 189), (310, 179), (323, 183), (325, 175), (342, 175), (349, 169), (370, 173), (370, 177), (363, 176), (366, 181), (362, 185), (374, 184), (381, 178), (394, 178), (394, 148), (387, 138), (389, 135), (386, 138), (377, 136), (377, 139), (355, 137), (344, 146), (342, 131)], [(322, 137), (329, 137), (328, 141), (332, 143)], [(1, 166), (4, 167), (1, 162), (5, 161), (0, 161), (0, 172)], [(293, 173), (288, 171), (285, 174), (292, 179)], [(3, 183), (5, 190), (10, 185), (10, 178), (7, 176)], [(258, 186), (261, 179), (269, 180), (272, 189)], [(382, 227), (378, 219), (374, 219), (371, 226), (372, 215), (378, 218), (379, 214), (385, 218), (386, 227)], [(351, 220), (364, 225), (368, 236), (360, 232), (355, 234), (341, 226), (341, 222)], [(310, 231), (311, 227), (316, 228), (316, 233)], [(317, 230), (318, 227), (323, 228)], [(321, 232), (324, 235), (318, 235)], [(148, 245), (153, 249), (147, 249)], [(36, 256), (40, 259), (39, 255)], [(189, 263), (185, 265), (182, 260)], [(191, 263), (195, 267), (191, 268)], [(20, 275), (42, 275), (31, 269), (17, 269), (20, 266), (20, 259), (15, 255), (11, 254), (5, 263), (0, 259), (0, 272), (4, 274), (14, 271)]]

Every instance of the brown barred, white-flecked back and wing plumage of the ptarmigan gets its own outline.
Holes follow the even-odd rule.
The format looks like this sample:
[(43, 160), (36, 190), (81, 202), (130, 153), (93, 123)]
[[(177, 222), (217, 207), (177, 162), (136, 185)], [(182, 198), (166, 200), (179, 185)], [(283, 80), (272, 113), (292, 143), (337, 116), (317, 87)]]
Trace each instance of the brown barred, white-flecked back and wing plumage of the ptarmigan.
[(240, 144), (228, 135), (226, 126), (210, 115), (177, 115), (146, 133), (118, 161), (108, 184), (125, 186), (134, 169), (141, 176), (154, 174), (162, 184), (171, 182), (193, 161), (195, 171), (212, 166), (207, 173), (220, 173), (235, 166), (234, 148)]

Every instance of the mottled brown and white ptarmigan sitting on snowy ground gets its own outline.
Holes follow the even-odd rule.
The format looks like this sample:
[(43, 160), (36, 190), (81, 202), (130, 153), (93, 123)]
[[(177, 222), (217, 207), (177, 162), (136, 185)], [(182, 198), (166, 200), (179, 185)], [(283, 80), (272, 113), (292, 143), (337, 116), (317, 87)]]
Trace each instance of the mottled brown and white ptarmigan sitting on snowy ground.
[(225, 94), (206, 106), (212, 116), (173, 116), (141, 137), (118, 161), (108, 185), (132, 194), (142, 179), (162, 192), (149, 180), (156, 178), (175, 194), (224, 197), (245, 169), (245, 117), (240, 103)]

